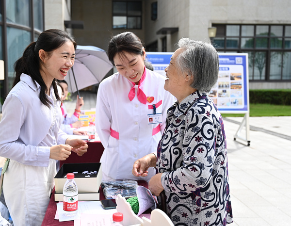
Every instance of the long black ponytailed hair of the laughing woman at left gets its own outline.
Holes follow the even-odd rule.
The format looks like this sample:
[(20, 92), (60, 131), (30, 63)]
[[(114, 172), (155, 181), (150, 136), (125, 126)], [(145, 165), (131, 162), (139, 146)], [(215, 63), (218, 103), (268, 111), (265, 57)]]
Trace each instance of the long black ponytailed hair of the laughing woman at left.
[[(42, 32), (36, 42), (32, 42), (23, 52), (22, 57), (20, 57), (14, 65), (16, 72), (16, 77), (13, 82), (14, 87), (20, 81), (20, 75), (22, 73), (29, 75), (32, 78), (32, 81), (36, 85), (36, 82), (41, 86), (39, 98), (40, 101), (50, 107), (49, 99), (46, 95), (49, 87), (46, 86), (41, 74), (40, 74), (40, 65), (43, 64), (43, 61), (39, 58), (38, 52), (40, 49), (45, 50), (50, 57), (53, 50), (63, 46), (65, 42), (71, 41), (76, 50), (77, 43), (71, 34), (58, 30), (50, 29)], [(58, 100), (61, 100), (58, 91), (57, 84), (55, 79), (52, 81), (53, 90), (55, 96)]]

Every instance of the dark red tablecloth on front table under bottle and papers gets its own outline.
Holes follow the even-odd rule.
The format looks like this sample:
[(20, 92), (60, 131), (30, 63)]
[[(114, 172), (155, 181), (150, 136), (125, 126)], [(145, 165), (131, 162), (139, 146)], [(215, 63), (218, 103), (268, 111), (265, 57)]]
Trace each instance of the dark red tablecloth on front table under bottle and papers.
[[(148, 184), (144, 180), (139, 180), (137, 181), (137, 183), (138, 185), (148, 188)], [(101, 188), (99, 191), (100, 191), (100, 200), (105, 199), (105, 196)], [(57, 202), (55, 202), (54, 200), (54, 190), (53, 190), (50, 196), (49, 206), (48, 206), (45, 218), (41, 226), (74, 226), (74, 221), (59, 222), (59, 220), (55, 220), (54, 217), (56, 215), (56, 211), (57, 211)]]

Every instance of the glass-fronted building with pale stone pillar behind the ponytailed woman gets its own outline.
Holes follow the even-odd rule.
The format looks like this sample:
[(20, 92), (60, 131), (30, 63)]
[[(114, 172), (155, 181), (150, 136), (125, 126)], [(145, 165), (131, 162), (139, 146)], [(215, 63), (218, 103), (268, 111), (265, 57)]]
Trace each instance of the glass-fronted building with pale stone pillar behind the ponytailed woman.
[(44, 30), (65, 30), (70, 20), (70, 0), (0, 0), (0, 60), (4, 80), (0, 80), (1, 104), (15, 78), (14, 63), (23, 50)]

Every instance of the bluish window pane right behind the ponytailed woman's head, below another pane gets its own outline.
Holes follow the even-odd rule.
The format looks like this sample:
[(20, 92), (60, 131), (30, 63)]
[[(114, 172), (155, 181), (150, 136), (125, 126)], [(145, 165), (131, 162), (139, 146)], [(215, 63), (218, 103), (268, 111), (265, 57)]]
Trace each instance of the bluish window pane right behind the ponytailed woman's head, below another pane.
[(22, 56), (23, 50), (31, 43), (31, 32), (7, 27), (7, 63), (8, 63), (8, 88), (14, 81), (14, 63)]

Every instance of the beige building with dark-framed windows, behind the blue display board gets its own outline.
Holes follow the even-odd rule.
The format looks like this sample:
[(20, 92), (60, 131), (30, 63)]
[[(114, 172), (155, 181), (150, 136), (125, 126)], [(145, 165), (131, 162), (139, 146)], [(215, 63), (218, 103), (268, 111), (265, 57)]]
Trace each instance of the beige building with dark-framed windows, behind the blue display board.
[(72, 0), (80, 45), (107, 49), (112, 35), (136, 33), (147, 51), (175, 51), (182, 37), (209, 41), (219, 52), (247, 52), (250, 89), (291, 88), (289, 0)]

